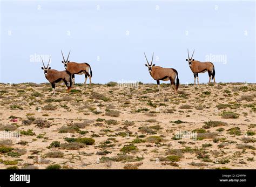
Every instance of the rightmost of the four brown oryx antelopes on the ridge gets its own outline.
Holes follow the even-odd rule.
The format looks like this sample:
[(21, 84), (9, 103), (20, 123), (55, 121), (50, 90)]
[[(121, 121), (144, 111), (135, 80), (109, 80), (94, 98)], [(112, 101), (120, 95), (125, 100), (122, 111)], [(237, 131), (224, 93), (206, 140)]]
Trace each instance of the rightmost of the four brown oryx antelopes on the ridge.
[(190, 69), (194, 74), (194, 85), (196, 85), (196, 78), (197, 78), (197, 84), (199, 84), (198, 73), (205, 73), (206, 71), (208, 72), (208, 75), (209, 75), (209, 82), (211, 82), (211, 79), (213, 79), (215, 82), (214, 65), (210, 61), (201, 63), (200, 61), (194, 60), (193, 55), (194, 55), (194, 51), (193, 51), (192, 57), (190, 58), (190, 54), (187, 49), (188, 59), (186, 59), (186, 61), (188, 61), (188, 65), (190, 66)]

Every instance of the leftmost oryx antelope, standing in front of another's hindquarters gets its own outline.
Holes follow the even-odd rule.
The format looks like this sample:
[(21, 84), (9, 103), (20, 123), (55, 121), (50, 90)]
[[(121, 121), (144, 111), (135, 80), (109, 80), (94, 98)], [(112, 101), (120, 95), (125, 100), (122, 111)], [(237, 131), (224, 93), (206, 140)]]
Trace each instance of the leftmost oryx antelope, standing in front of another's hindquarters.
[(45, 67), (44, 61), (42, 59), (43, 66), (44, 66), (42, 67), (42, 70), (44, 70), (45, 78), (51, 83), (53, 95), (55, 95), (55, 84), (62, 80), (64, 81), (66, 87), (68, 87), (67, 91), (69, 92), (72, 86), (71, 74), (68, 71), (51, 70), (51, 67), (49, 67), (50, 59), (47, 67)]

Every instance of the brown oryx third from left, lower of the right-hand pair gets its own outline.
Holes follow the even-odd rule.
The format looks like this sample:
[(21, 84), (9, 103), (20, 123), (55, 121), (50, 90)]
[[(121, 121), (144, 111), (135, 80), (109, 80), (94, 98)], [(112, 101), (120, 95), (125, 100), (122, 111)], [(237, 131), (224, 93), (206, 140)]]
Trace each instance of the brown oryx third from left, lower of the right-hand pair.
[[(144, 52), (144, 55), (147, 60), (145, 52)], [(176, 93), (178, 90), (178, 87), (179, 87), (178, 72), (173, 68), (164, 68), (164, 67), (160, 67), (160, 66), (155, 66), (155, 64), (152, 65), (153, 58), (154, 58), (154, 53), (152, 56), (151, 63), (149, 64), (149, 61), (147, 61), (147, 64), (145, 64), (145, 66), (147, 68), (149, 68), (149, 73), (150, 73), (151, 77), (157, 81), (159, 94), (160, 94), (160, 80), (163, 80), (163, 81), (170, 80), (172, 88), (174, 89), (174, 92)], [(175, 79), (177, 80), (176, 84), (175, 84)], [(175, 87), (175, 85), (176, 85), (176, 87)]]

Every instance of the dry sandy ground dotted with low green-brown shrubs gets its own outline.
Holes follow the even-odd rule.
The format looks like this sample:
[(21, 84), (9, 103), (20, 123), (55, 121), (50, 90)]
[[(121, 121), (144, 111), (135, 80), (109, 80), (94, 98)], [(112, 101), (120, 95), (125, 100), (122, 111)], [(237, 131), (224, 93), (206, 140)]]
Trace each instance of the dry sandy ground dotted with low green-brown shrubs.
[(56, 88), (0, 84), (0, 169), (256, 169), (255, 84)]

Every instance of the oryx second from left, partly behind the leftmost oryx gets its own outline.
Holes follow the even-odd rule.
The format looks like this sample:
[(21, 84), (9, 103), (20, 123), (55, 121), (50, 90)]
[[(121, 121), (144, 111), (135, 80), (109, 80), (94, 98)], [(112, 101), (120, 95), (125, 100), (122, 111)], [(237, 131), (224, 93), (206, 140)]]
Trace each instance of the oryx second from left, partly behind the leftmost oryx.
[[(70, 54), (70, 51), (69, 51), (69, 54)], [(89, 64), (70, 62), (69, 55), (68, 55), (68, 58), (65, 60), (63, 53), (62, 53), (62, 57), (63, 57), (62, 63), (64, 64), (66, 71), (68, 71), (71, 74), (73, 84), (75, 84), (75, 74), (79, 74), (79, 75), (84, 74), (85, 75), (84, 84), (86, 84), (87, 77), (89, 77), (90, 85), (91, 85), (92, 69)], [(89, 74), (89, 69), (90, 69), (90, 74)]]

